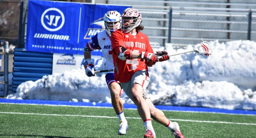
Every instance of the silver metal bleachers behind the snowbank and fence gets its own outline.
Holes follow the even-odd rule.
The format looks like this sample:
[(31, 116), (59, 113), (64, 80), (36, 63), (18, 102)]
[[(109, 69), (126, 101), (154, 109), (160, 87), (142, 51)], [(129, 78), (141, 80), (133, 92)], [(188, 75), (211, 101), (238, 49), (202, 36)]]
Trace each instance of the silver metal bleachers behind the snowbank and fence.
[(140, 10), (142, 32), (148, 35), (153, 47), (168, 42), (176, 47), (193, 45), (200, 43), (201, 37), (219, 42), (256, 40), (256, 1), (215, 1), (95, 0), (92, 3), (128, 5)]

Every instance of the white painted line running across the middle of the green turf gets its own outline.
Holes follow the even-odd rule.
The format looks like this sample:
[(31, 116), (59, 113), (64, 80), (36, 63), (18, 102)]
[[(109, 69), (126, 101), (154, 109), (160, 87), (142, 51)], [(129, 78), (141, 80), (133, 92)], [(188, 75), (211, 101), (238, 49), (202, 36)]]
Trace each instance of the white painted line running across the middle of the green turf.
[[(75, 117), (99, 117), (99, 118), (118, 118), (111, 116), (97, 116), (97, 115), (59, 115), (59, 114), (44, 114), (44, 113), (16, 113), (16, 112), (0, 112), (9, 114), (24, 114), (24, 115), (52, 115), (52, 116), (75, 116)], [(141, 119), (140, 117), (125, 117), (129, 119)], [(243, 124), (243, 125), (255, 125), (254, 123), (235, 123), (235, 122), (222, 122), (222, 121), (199, 121), (199, 120), (184, 120), (184, 119), (171, 119), (174, 121), (188, 121), (188, 122), (200, 122), (200, 123), (224, 123), (224, 124)]]

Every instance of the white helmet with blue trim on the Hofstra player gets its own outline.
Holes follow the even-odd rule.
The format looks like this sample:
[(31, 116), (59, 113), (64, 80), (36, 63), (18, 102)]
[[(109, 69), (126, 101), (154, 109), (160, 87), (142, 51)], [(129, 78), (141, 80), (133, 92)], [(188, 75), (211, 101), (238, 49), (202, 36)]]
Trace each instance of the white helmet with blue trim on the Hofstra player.
[(104, 25), (106, 32), (109, 36), (111, 36), (111, 33), (115, 30), (119, 29), (121, 27), (121, 15), (119, 12), (113, 10), (108, 11), (104, 15)]

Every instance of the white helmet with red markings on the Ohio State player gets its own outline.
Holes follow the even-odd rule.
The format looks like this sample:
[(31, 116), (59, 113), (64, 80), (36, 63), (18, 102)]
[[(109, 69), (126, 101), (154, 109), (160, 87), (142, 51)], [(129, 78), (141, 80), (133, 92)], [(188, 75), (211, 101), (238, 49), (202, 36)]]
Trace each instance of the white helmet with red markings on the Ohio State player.
[(121, 17), (132, 17), (133, 22), (130, 25), (124, 25), (125, 20), (122, 21), (121, 31), (124, 33), (129, 33), (131, 30), (136, 28), (142, 22), (142, 16), (140, 11), (135, 8), (127, 8), (123, 11)]

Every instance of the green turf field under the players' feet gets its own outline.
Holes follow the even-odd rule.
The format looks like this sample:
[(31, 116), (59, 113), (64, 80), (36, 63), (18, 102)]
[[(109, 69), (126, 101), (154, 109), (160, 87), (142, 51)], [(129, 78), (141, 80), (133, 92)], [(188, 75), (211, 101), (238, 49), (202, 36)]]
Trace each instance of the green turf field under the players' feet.
[[(139, 138), (145, 129), (137, 110), (124, 110), (129, 130), (118, 135), (113, 108), (0, 104), (0, 137), (43, 138)], [(256, 137), (256, 115), (170, 112), (187, 138)], [(165, 126), (152, 121), (158, 138), (174, 137)]]

